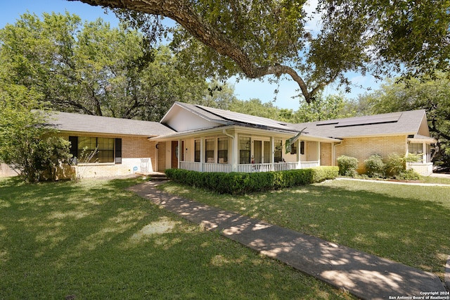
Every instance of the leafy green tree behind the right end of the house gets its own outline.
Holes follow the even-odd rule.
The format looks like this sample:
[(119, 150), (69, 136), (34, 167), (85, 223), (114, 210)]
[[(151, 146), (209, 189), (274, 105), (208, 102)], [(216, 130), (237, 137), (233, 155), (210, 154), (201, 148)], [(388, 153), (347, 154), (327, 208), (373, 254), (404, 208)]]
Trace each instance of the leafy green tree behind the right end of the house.
[[(372, 114), (425, 109), (430, 134), (437, 139), (435, 161), (450, 167), (450, 79), (444, 73), (428, 80), (386, 80), (380, 89), (361, 96)], [(370, 109), (370, 111), (369, 111)]]

